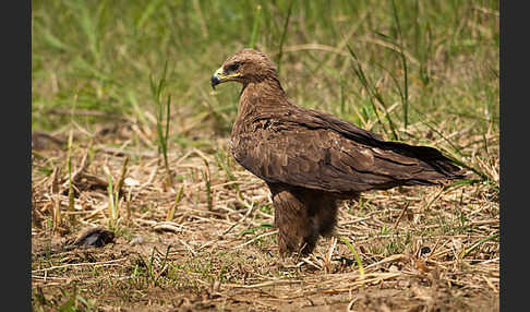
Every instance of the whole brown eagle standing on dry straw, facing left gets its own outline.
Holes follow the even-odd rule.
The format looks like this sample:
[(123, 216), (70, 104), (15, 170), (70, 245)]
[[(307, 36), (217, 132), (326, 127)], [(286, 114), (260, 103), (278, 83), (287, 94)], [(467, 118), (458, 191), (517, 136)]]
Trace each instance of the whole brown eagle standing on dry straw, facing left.
[(243, 85), (230, 151), (272, 192), (281, 254), (308, 254), (320, 236), (330, 236), (338, 200), (463, 177), (435, 148), (387, 142), (335, 116), (296, 106), (276, 65), (260, 51), (243, 49), (228, 58), (212, 87), (230, 81)]

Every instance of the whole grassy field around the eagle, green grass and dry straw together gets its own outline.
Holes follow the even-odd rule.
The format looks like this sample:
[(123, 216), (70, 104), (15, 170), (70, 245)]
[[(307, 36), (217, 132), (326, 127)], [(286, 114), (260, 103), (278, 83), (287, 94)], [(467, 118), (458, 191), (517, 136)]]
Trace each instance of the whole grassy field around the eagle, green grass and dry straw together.
[[(497, 311), (498, 16), (492, 0), (34, 1), (33, 309)], [(252, 44), (298, 105), (442, 149), (469, 179), (364, 193), (313, 255), (279, 259), (268, 191), (227, 151), (239, 87), (209, 86)], [(115, 242), (64, 248), (95, 226)]]

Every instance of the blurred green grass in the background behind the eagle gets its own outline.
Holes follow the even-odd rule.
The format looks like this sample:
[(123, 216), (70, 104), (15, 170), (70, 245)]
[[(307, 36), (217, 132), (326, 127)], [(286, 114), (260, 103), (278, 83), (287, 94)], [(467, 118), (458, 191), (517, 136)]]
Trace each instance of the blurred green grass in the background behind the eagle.
[(255, 47), (278, 63), (294, 103), (386, 139), (441, 140), (463, 157), (473, 143), (460, 134), (498, 133), (498, 1), (32, 4), (33, 130), (156, 129), (157, 103), (170, 96), (168, 144), (206, 146), (229, 135), (240, 89), (214, 92), (209, 79)]

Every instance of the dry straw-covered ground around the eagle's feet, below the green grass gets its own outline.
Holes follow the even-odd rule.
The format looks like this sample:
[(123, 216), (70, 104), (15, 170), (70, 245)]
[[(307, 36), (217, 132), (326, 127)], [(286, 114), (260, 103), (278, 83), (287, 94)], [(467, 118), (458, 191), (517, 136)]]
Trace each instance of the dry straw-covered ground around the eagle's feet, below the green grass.
[[(365, 193), (341, 205), (336, 236), (314, 254), (281, 260), (268, 191), (234, 164), (226, 139), (213, 143), (215, 153), (169, 153), (168, 185), (161, 157), (128, 148), (128, 131), (74, 133), (72, 208), (61, 170), (68, 148), (34, 141), (44, 147), (34, 148), (32, 177), (36, 311), (498, 310), (498, 199), (490, 183)], [(478, 165), (498, 177), (498, 160)], [(107, 171), (123, 180), (113, 213)], [(94, 226), (111, 228), (115, 243), (61, 250)]]

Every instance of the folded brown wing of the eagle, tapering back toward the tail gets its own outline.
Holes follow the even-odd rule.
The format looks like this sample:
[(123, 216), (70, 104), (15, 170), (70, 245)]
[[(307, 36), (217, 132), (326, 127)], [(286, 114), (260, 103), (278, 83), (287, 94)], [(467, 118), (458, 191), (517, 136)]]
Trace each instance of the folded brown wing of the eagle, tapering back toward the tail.
[(236, 159), (267, 182), (349, 193), (433, 184), (458, 168), (434, 148), (385, 142), (332, 115), (296, 108), (257, 115), (252, 131), (232, 137)]

